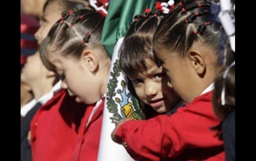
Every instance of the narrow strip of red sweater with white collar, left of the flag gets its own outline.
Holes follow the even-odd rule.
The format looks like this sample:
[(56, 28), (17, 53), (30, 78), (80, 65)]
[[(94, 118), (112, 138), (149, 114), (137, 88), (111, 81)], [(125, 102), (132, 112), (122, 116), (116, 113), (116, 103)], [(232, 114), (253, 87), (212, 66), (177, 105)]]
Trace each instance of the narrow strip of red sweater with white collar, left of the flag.
[(94, 106), (89, 107), (89, 109), (87, 108), (81, 123), (81, 130), (79, 131), (78, 143), (74, 150), (73, 161), (97, 161), (103, 107), (104, 99), (89, 122), (88, 119)]

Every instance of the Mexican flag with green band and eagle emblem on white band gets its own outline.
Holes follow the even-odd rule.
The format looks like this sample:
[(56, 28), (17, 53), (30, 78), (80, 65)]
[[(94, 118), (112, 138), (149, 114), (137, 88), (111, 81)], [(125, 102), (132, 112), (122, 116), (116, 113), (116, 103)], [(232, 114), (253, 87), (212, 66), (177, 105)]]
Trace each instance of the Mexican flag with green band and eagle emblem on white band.
[(103, 111), (98, 161), (133, 160), (122, 145), (116, 144), (111, 139), (112, 130), (122, 119), (145, 118), (139, 101), (127, 88), (125, 76), (119, 66), (118, 51), (134, 16), (142, 14), (147, 8), (153, 10), (154, 6), (155, 0), (110, 1), (101, 42), (111, 57), (112, 63)]

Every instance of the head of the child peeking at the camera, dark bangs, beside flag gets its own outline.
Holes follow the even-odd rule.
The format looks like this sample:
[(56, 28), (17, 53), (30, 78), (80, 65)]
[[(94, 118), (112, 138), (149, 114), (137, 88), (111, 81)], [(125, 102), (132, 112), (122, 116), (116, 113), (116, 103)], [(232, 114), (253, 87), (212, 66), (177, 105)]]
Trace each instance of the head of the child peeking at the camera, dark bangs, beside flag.
[(162, 18), (151, 11), (137, 15), (120, 50), (122, 71), (132, 81), (139, 99), (150, 106), (145, 109), (146, 114), (148, 108), (172, 114), (181, 106), (180, 98), (167, 87), (168, 76), (155, 64), (153, 57), (153, 35)]

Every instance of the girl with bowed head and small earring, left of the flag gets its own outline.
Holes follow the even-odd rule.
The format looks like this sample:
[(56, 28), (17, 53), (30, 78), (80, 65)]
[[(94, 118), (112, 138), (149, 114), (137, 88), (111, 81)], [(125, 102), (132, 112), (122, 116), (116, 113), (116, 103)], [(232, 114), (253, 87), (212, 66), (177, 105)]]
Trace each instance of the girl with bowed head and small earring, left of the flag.
[(47, 67), (77, 102), (87, 104), (73, 160), (97, 160), (110, 58), (100, 43), (104, 17), (94, 11), (72, 10), (50, 30), (41, 45)]

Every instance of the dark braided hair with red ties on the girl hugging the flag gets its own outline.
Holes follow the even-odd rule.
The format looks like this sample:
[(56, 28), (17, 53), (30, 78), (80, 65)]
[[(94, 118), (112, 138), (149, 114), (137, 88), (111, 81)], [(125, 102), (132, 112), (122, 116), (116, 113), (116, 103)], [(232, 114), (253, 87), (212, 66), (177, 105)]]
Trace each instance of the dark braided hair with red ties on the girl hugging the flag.
[[(180, 56), (185, 57), (193, 43), (201, 41), (217, 52), (221, 26), (208, 21), (210, 4), (209, 0), (183, 0), (176, 4), (159, 24), (153, 48), (179, 51)], [(158, 65), (162, 63), (159, 59), (156, 62)]]

